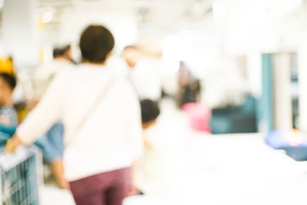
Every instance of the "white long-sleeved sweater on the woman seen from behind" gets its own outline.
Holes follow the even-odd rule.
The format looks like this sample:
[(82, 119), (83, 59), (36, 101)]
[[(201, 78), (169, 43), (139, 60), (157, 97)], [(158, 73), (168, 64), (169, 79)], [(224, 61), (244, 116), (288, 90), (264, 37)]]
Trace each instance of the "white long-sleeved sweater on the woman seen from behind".
[(64, 174), (68, 181), (129, 167), (143, 153), (140, 103), (124, 78), (116, 77), (116, 83), (94, 114), (78, 135), (72, 136), (101, 89), (114, 77), (101, 66), (84, 64), (65, 68), (17, 129), (20, 139), (32, 144), (55, 122), (63, 122)]

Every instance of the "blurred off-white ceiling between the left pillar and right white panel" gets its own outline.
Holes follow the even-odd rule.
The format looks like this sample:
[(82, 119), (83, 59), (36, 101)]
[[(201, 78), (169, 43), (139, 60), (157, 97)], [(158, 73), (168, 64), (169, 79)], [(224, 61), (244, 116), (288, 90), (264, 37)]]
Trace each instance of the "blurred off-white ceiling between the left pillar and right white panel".
[(169, 27), (178, 20), (198, 20), (212, 10), (213, 0), (38, 0), (41, 12), (52, 11), (52, 24), (67, 10), (80, 5), (95, 4), (108, 11), (133, 11), (138, 15), (140, 26)]

